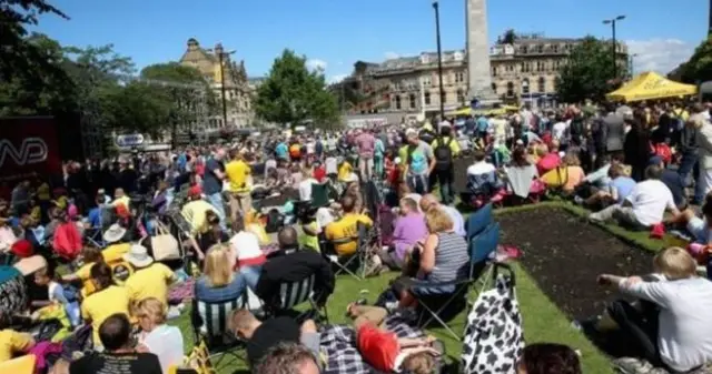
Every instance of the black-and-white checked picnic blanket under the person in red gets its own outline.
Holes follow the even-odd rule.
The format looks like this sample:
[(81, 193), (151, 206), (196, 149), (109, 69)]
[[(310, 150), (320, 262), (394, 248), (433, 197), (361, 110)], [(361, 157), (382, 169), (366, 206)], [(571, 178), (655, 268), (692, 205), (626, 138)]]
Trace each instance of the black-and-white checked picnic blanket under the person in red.
[[(386, 326), (398, 337), (423, 337), (425, 333), (408, 325), (399, 314), (386, 319)], [(364, 362), (356, 348), (356, 333), (352, 326), (327, 325), (322, 330), (322, 350), (326, 353), (325, 374), (382, 374)]]

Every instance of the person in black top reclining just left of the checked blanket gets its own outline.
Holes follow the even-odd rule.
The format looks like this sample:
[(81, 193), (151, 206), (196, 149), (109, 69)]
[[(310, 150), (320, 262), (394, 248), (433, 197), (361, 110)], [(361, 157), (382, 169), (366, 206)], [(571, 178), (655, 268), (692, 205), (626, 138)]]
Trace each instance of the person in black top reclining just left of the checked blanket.
[[(294, 319), (279, 316), (264, 322), (247, 310), (237, 310), (230, 316), (230, 330), (247, 342), (247, 361), (256, 366), (271, 347), (281, 343), (301, 343), (319, 362), (319, 333), (312, 320), (301, 325)], [(256, 373), (261, 373), (257, 371)]]

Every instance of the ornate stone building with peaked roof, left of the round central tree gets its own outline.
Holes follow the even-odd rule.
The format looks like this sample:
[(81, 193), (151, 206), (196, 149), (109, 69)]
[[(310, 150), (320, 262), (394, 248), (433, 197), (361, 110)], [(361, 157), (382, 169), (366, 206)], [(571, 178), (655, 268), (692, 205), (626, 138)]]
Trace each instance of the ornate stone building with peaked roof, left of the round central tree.
[[(205, 130), (216, 130), (226, 125), (245, 128), (254, 119), (254, 89), (248, 84), (245, 61), (236, 62), (231, 59), (231, 54), (233, 52), (225, 51), (220, 43), (212, 49), (205, 49), (196, 39), (190, 38), (188, 49), (180, 58), (181, 64), (197, 68), (215, 92), (217, 114), (208, 120), (208, 128)], [(220, 69), (220, 60), (222, 60), (222, 69)], [(222, 118), (222, 84), (225, 84), (227, 123)]]

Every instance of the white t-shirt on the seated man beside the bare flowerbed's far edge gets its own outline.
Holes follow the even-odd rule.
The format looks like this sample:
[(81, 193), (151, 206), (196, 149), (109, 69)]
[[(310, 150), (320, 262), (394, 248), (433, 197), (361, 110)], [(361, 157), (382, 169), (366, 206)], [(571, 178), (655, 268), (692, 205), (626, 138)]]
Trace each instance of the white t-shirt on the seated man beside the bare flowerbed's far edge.
[(675, 209), (672, 192), (657, 180), (647, 180), (635, 184), (625, 200), (632, 203), (637, 222), (645, 226), (662, 222), (665, 210)]

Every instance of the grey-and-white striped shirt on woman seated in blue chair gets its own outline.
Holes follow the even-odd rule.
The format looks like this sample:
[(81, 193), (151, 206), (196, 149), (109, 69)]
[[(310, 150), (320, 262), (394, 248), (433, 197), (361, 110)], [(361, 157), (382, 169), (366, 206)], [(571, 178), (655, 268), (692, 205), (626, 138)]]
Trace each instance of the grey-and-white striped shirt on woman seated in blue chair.
[(467, 277), (469, 255), (467, 242), (455, 232), (437, 234), (435, 267), (428, 274), (431, 282), (451, 282)]

